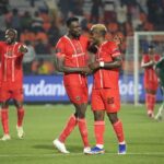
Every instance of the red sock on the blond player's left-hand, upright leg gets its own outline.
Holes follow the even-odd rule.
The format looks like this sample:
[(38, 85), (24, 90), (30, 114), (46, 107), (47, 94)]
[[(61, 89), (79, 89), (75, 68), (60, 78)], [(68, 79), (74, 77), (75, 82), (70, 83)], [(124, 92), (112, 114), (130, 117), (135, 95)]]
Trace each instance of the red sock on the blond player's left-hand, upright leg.
[(96, 139), (96, 144), (104, 144), (104, 131), (105, 131), (105, 121), (95, 121), (94, 122), (94, 134)]

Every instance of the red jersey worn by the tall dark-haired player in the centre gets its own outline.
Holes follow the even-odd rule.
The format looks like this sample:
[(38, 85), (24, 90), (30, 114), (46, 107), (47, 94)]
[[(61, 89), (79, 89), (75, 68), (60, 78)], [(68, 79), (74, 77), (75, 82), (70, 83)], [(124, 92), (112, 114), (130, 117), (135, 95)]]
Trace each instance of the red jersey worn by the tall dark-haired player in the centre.
[[(86, 63), (87, 37), (81, 36), (79, 39), (70, 39), (67, 35), (62, 36), (56, 45), (57, 56), (65, 57), (67, 67), (85, 67)], [(86, 85), (86, 77), (80, 73), (65, 73), (65, 85)]]

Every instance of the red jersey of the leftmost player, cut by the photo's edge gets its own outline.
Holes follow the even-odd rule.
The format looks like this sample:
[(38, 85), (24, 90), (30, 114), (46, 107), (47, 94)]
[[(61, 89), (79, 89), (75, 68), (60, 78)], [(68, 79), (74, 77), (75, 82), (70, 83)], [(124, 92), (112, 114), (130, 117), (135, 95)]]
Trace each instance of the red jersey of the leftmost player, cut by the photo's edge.
[(1, 85), (3, 90), (17, 90), (23, 86), (23, 54), (19, 51), (21, 45), (20, 43), (8, 45), (5, 42), (0, 42)]

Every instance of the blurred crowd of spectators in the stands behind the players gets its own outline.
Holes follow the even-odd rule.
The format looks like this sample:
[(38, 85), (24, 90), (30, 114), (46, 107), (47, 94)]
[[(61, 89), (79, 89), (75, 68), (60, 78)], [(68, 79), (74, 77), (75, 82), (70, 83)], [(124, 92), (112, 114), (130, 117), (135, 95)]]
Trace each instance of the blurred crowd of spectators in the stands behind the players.
[[(108, 39), (115, 34), (126, 40), (134, 31), (164, 30), (164, 0), (20, 0), (14, 7), (13, 3), (16, 1), (0, 0), (0, 39), (8, 27), (19, 31), (19, 40), (30, 48), (24, 58), (27, 74), (54, 73), (54, 46), (66, 34), (65, 21), (69, 16), (80, 19), (84, 35), (89, 35), (92, 24), (104, 23), (110, 32)], [(125, 52), (126, 42), (120, 48)]]

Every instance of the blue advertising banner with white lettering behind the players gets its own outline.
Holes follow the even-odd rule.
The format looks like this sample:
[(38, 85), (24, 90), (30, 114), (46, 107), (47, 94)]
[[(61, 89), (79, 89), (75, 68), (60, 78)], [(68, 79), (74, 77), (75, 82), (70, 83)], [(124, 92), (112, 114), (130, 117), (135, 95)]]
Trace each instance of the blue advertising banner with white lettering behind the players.
[[(144, 102), (144, 90), (142, 85), (143, 77), (140, 75), (139, 82), (139, 98), (140, 102)], [(92, 77), (89, 77), (89, 94), (92, 91)], [(24, 98), (25, 102), (69, 102), (67, 93), (65, 91), (62, 75), (28, 75), (24, 77)], [(121, 102), (133, 102), (133, 75), (129, 75), (126, 79), (120, 75), (119, 89), (121, 95)], [(160, 91), (156, 96), (157, 101), (162, 99)]]

